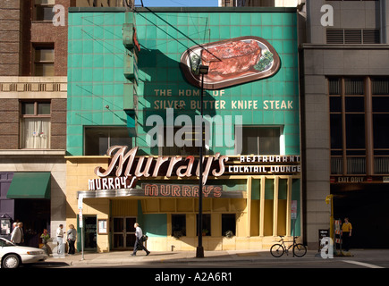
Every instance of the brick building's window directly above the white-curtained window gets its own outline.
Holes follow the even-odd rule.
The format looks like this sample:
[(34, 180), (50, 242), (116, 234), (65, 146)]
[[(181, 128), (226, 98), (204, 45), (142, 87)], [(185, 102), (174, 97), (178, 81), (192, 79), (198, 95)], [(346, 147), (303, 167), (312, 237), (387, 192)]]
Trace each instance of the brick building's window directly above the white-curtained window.
[(54, 45), (34, 46), (34, 70), (36, 76), (54, 76)]

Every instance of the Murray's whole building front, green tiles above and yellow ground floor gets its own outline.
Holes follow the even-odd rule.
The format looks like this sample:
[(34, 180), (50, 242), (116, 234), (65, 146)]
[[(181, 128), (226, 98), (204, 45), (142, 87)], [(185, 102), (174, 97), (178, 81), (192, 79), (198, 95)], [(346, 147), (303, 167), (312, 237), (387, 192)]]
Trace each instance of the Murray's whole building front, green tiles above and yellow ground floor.
[[(131, 25), (136, 28), (139, 52), (135, 51), (136, 41), (133, 41), (134, 45), (131, 46), (131, 33), (134, 31)], [(243, 168), (246, 163), (239, 162), (239, 152), (235, 146), (226, 142), (235, 138), (236, 125), (239, 123), (243, 128), (279, 129), (280, 134), (269, 136), (272, 141), (268, 144), (276, 146), (279, 139), (280, 150), (272, 154), (275, 155), (272, 157), (278, 157), (277, 160), (281, 158), (277, 155), (285, 155), (283, 159), (287, 156), (300, 156), (297, 13), (294, 9), (137, 8), (134, 12), (126, 12), (118, 8), (71, 8), (67, 114), (69, 192), (86, 189), (86, 172), (91, 170), (89, 161), (109, 161), (106, 157), (86, 156), (87, 127), (126, 128), (125, 131), (128, 131), (132, 140), (132, 147), (139, 147), (137, 156), (161, 158), (175, 155), (167, 152), (180, 152), (177, 148), (172, 150), (150, 147), (148, 131), (155, 129), (156, 123), (151, 122), (150, 125), (147, 121), (150, 116), (159, 115), (158, 118), (163, 122), (158, 127), (162, 130), (174, 125), (173, 121), (180, 115), (188, 115), (191, 123), (196, 123), (195, 116), (200, 114), (200, 88), (186, 80), (185, 70), (180, 66), (182, 55), (193, 46), (247, 36), (263, 38), (275, 48), (280, 59), (279, 69), (263, 79), (250, 79), (251, 81), (239, 84), (235, 82), (234, 85), (224, 88), (210, 87), (215, 89), (204, 90), (204, 116), (221, 118), (223, 121), (223, 124), (217, 127), (215, 123), (212, 125), (212, 141), (206, 142), (210, 147), (205, 155), (235, 155), (236, 157), (229, 160), (229, 166), (235, 167), (236, 163), (237, 167)], [(256, 46), (257, 51), (258, 47), (260, 48), (259, 44)], [(137, 64), (134, 64), (135, 58), (138, 59)], [(252, 60), (252, 55), (250, 59)], [(275, 59), (278, 58), (275, 56)], [(174, 114), (173, 120), (167, 116), (169, 113)], [(96, 130), (93, 134), (97, 134), (102, 128)], [(164, 135), (167, 136), (166, 133)], [(259, 140), (260, 136), (247, 137)], [(223, 144), (218, 141), (221, 138), (224, 139)], [(98, 145), (98, 139), (92, 138), (88, 142), (90, 141)], [(270, 149), (273, 150), (272, 147), (269, 147)], [(198, 156), (198, 148), (193, 150), (185, 150), (185, 156)], [(172, 160), (172, 157), (170, 159)], [(211, 161), (209, 157), (207, 160), (213, 162), (212, 158)], [(223, 162), (219, 160), (219, 163), (221, 161)], [(266, 161), (265, 164), (271, 166), (269, 162)], [(286, 161), (277, 162), (281, 168), (281, 164)], [(285, 164), (300, 167), (300, 162), (291, 161)], [(199, 180), (194, 172), (198, 165), (196, 162), (193, 170), (188, 166), (191, 173), (187, 178), (168, 178), (159, 173), (153, 173), (147, 178), (140, 177), (135, 190), (146, 191), (147, 187), (142, 186), (143, 183), (166, 186), (175, 184), (182, 187), (189, 185), (197, 188)], [(163, 167), (167, 168), (166, 164)], [(223, 169), (222, 166), (219, 167)], [(233, 170), (225, 171), (220, 178), (216, 178), (215, 172), (212, 173), (214, 176), (212, 178), (209, 175), (207, 186), (222, 187), (226, 197), (205, 198), (206, 212), (209, 214), (208, 227), (212, 231), (206, 239), (207, 249), (266, 248), (267, 240), (273, 241), (273, 236), (278, 233), (286, 236), (300, 235), (300, 215), (294, 217), (291, 212), (292, 206), (295, 206), (294, 211), (301, 214), (300, 168), (280, 172)], [(93, 173), (88, 173), (88, 176), (93, 176)], [(128, 187), (127, 190), (131, 192), (134, 189)], [(93, 191), (85, 193), (94, 194)], [(96, 195), (98, 193), (99, 191)], [(162, 191), (159, 195), (162, 196)], [(165, 246), (170, 245), (167, 241), (173, 240), (173, 214), (185, 214), (187, 232), (186, 237), (180, 240), (179, 248), (193, 248), (197, 237), (196, 195), (193, 195), (193, 198), (184, 198), (187, 196), (185, 193), (182, 198), (160, 197), (157, 200), (148, 196), (151, 195), (124, 199), (119, 196), (117, 199), (98, 200), (98, 203), (97, 200), (91, 200), (85, 202), (91, 206), (89, 213), (85, 214), (97, 215), (99, 218), (109, 218), (119, 211), (123, 211), (120, 215), (137, 215), (137, 220), (147, 229), (150, 247), (153, 248), (151, 250), (164, 251), (167, 250)], [(136, 214), (132, 205), (119, 206), (122, 203), (131, 204), (134, 200), (138, 201), (139, 206)], [(70, 202), (69, 205), (75, 207), (74, 203), (75, 201)], [(94, 206), (95, 203), (97, 206)], [(97, 209), (103, 214), (97, 214)], [(222, 233), (223, 217), (231, 218), (231, 214), (235, 214), (236, 218), (241, 217), (230, 225), (239, 238), (233, 246), (230, 245), (231, 241), (223, 239)], [(113, 234), (109, 242), (106, 237), (97, 235), (97, 243), (106, 241), (106, 245), (118, 248), (114, 238)], [(179, 242), (174, 240), (174, 244), (176, 243)]]

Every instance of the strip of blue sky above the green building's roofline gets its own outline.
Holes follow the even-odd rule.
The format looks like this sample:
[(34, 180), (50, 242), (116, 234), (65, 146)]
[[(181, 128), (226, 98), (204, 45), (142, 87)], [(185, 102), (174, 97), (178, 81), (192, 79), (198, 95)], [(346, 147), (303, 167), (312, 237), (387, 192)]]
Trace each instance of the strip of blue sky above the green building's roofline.
[[(142, 0), (145, 7), (217, 7), (218, 0)], [(135, 5), (141, 4), (135, 0)]]

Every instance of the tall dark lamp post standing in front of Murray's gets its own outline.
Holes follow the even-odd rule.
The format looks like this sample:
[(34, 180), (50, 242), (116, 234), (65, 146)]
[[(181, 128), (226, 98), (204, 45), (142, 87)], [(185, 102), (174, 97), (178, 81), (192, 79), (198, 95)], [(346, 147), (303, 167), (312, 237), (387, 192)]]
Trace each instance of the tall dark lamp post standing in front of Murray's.
[(196, 257), (204, 257), (203, 248), (203, 93), (204, 93), (204, 74), (208, 73), (207, 65), (199, 65), (199, 74), (201, 74), (201, 95), (200, 95), (200, 115), (201, 115), (201, 126), (200, 126), (200, 147), (199, 147), (199, 218), (198, 218), (198, 233), (199, 241), (198, 247), (196, 248)]

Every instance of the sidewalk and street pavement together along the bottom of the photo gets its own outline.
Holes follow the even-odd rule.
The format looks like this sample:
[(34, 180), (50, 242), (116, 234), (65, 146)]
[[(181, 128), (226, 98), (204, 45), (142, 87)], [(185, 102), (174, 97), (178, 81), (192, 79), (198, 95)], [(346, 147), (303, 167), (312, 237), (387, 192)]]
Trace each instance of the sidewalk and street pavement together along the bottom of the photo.
[(293, 257), (292, 254), (283, 257), (272, 257), (269, 250), (224, 250), (205, 251), (204, 257), (196, 257), (196, 251), (152, 251), (146, 256), (144, 251), (138, 251), (136, 257), (131, 257), (132, 251), (111, 251), (108, 253), (80, 252), (75, 255), (57, 257), (50, 255), (41, 266), (72, 266), (72, 267), (190, 267), (195, 265), (207, 267), (256, 267), (267, 265), (283, 267), (283, 265), (298, 265), (299, 267), (333, 267), (342, 263), (342, 267), (386, 268), (389, 267), (389, 249), (353, 249), (347, 256), (323, 258), (317, 250), (309, 250), (304, 257)]

